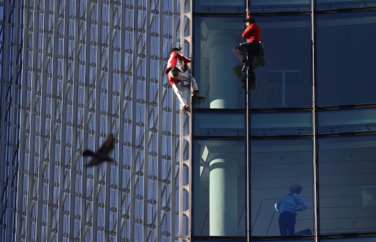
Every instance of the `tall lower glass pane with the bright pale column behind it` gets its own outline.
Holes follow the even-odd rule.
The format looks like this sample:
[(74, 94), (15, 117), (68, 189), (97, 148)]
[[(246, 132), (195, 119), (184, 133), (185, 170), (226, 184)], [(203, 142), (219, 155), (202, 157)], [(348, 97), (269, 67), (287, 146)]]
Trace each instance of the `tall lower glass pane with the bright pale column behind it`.
[(196, 140), (193, 154), (193, 234), (245, 236), (245, 141)]

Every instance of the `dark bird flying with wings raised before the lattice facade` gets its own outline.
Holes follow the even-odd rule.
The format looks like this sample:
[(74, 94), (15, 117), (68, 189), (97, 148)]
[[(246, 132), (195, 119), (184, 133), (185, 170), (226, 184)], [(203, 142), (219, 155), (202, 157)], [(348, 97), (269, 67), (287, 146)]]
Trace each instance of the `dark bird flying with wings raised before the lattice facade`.
[(98, 165), (104, 161), (113, 161), (111, 157), (109, 157), (109, 152), (113, 149), (115, 146), (115, 139), (113, 138), (113, 134), (110, 134), (107, 137), (106, 142), (100, 147), (100, 149), (97, 152), (93, 152), (91, 150), (85, 150), (82, 153), (82, 156), (91, 156), (91, 162), (87, 163), (85, 166), (95, 166)]

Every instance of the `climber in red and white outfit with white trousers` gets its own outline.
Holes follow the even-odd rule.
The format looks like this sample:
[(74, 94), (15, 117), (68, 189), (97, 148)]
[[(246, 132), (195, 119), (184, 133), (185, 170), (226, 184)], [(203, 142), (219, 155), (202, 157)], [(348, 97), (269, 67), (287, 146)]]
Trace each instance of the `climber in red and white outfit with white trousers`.
[(191, 63), (191, 58), (185, 57), (180, 54), (181, 49), (182, 47), (171, 48), (170, 58), (166, 66), (166, 74), (167, 78), (169, 79), (169, 83), (173, 88), (173, 91), (178, 97), (180, 104), (182, 104), (181, 109), (187, 111), (189, 110), (187, 101), (183, 97), (182, 92), (179, 90), (176, 84), (178, 84), (180, 81), (190, 81), (193, 89), (192, 98), (204, 99), (205, 97), (198, 95), (198, 86), (196, 79), (194, 79), (193, 76), (184, 73), (188, 70), (187, 64)]

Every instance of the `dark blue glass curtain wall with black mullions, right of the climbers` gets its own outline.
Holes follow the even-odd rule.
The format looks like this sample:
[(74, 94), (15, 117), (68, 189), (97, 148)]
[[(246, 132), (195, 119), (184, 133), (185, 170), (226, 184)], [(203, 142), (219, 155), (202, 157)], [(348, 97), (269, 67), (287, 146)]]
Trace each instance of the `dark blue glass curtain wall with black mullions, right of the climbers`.
[(193, 4), (193, 241), (376, 240), (376, 1)]

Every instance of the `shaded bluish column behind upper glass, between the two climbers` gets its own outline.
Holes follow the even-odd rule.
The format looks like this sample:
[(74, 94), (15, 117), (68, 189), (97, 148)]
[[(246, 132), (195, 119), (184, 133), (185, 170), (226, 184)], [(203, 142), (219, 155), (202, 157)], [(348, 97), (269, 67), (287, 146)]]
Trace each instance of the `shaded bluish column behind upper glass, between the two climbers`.
[(210, 108), (236, 108), (237, 83), (234, 65), (241, 65), (233, 54), (238, 43), (231, 35), (219, 33), (210, 40)]

